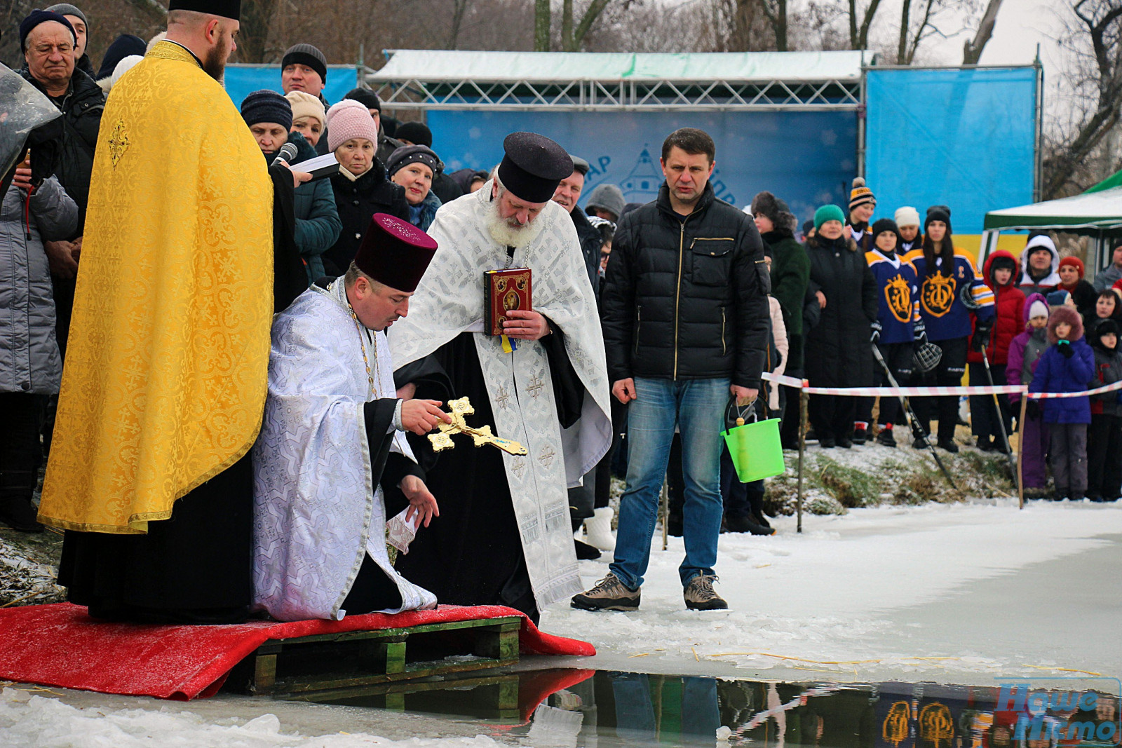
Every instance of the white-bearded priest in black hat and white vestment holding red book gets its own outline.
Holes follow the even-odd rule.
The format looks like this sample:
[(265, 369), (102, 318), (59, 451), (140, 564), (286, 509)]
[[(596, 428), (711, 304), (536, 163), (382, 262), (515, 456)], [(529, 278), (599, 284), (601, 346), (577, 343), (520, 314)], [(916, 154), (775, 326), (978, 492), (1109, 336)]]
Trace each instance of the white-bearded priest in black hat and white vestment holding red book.
[[(401, 395), (468, 396), (475, 424), (528, 454), (458, 447), (436, 460), (411, 437), (443, 512), (397, 570), (441, 602), (536, 619), (580, 589), (567, 488), (607, 451), (611, 425), (592, 287), (572, 220), (552, 201), (572, 159), (533, 132), (503, 145), (496, 177), (436, 213), (429, 234), (441, 251), (389, 342)], [(530, 268), (532, 310), (509, 311), (505, 336), (485, 334), (484, 274), (504, 268)]]

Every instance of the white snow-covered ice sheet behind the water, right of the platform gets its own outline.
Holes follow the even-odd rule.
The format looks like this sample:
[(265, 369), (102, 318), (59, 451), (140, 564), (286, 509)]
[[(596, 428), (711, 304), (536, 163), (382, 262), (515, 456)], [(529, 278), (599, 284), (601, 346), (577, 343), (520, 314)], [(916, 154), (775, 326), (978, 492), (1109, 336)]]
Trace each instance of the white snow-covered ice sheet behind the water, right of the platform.
[[(771, 537), (720, 536), (717, 589), (728, 611), (684, 609), (682, 539), (663, 552), (657, 536), (638, 611), (559, 604), (541, 626), (592, 641), (599, 654), (580, 664), (606, 669), (959, 683), (1122, 673), (1122, 654), (1095, 640), (1116, 630), (1107, 615), (1122, 592), (1122, 506), (884, 506), (804, 516), (801, 535), (793, 517), (772, 524)], [(588, 585), (607, 572), (608, 555), (581, 562)], [(1072, 636), (1080, 625), (1093, 635), (1097, 616), (1109, 629)], [(1079, 638), (1088, 639), (1082, 648)]]

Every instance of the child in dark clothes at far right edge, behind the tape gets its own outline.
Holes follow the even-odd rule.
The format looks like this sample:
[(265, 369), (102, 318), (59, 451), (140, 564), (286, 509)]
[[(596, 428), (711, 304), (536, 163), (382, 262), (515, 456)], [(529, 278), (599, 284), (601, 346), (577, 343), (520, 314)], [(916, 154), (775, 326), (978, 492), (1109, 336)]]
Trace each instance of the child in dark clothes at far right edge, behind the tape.
[[(1095, 353), (1095, 376), (1088, 387), (1102, 387), (1122, 380), (1118, 323), (1113, 320), (1103, 320), (1087, 336)], [(1092, 501), (1114, 501), (1122, 488), (1120, 391), (1091, 396), (1091, 428), (1087, 430), (1087, 498)]]

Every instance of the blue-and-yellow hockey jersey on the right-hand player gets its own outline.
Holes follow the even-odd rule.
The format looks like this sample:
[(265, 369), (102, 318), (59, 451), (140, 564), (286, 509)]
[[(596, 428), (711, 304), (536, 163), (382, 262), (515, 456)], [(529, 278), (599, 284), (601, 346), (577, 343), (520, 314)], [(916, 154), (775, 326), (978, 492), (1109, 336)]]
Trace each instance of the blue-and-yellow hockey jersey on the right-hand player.
[(964, 287), (969, 288), (969, 294), (978, 307), (974, 311), (978, 322), (993, 322), (993, 290), (982, 280), (982, 273), (974, 267), (974, 259), (965, 251), (955, 248), (954, 267), (949, 269), (949, 274), (948, 269), (941, 266), (928, 273), (922, 248), (908, 252), (904, 260), (916, 268), (919, 312), (927, 326), (928, 340), (936, 342), (969, 338), (973, 332), (971, 310), (963, 304), (959, 296)]

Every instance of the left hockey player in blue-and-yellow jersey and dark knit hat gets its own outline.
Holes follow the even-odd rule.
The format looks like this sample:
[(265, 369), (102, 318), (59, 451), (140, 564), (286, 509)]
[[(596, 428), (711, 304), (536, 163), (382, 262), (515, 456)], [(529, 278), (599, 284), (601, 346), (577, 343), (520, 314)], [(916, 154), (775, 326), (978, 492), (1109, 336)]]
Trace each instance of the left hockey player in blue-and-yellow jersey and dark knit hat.
[[(907, 382), (912, 375), (914, 341), (923, 334), (916, 298), (916, 268), (905, 262), (900, 249), (900, 232), (895, 221), (881, 219), (873, 224), (873, 249), (865, 252), (865, 261), (876, 278), (879, 299), (872, 341), (881, 358), (892, 370), (898, 382)], [(877, 386), (886, 386), (888, 377), (880, 363), (873, 369)], [(900, 416), (900, 403), (894, 397), (881, 398), (881, 433), (876, 443), (895, 446), (892, 431)]]

